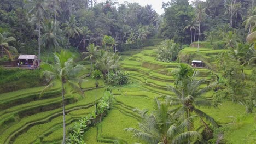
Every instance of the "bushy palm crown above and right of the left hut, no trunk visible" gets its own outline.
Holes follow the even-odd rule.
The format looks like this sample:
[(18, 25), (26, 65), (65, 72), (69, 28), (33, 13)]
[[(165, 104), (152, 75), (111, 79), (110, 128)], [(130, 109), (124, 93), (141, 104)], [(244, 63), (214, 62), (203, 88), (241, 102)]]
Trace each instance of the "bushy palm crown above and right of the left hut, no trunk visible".
[(55, 51), (59, 49), (59, 41), (62, 41), (63, 38), (60, 36), (62, 30), (57, 28), (53, 21), (46, 20), (43, 23), (44, 34), (41, 37), (42, 46), (52, 50), (55, 48)]

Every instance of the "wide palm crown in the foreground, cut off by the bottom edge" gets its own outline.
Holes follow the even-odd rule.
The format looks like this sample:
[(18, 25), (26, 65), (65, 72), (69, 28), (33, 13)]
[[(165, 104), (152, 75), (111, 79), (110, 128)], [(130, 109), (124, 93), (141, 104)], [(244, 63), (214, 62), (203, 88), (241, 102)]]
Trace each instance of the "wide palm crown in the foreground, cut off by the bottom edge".
[[(141, 114), (142, 121), (139, 129), (126, 128), (138, 139), (146, 143), (184, 143), (189, 140), (200, 139), (197, 131), (188, 130), (196, 116), (191, 116), (184, 121), (179, 118), (179, 111), (170, 113), (170, 101), (161, 103), (157, 98), (154, 100), (154, 111), (148, 115), (148, 110), (136, 110)], [(192, 129), (192, 127), (190, 127)]]

